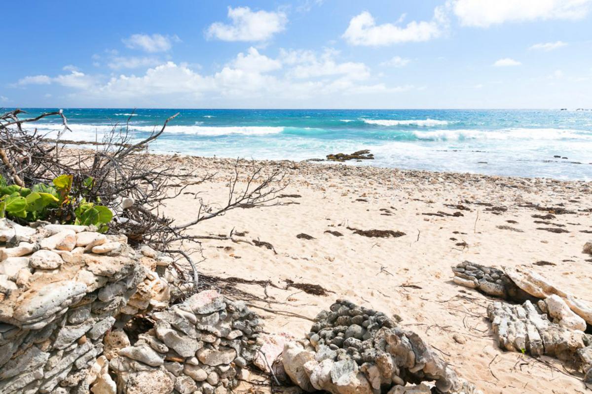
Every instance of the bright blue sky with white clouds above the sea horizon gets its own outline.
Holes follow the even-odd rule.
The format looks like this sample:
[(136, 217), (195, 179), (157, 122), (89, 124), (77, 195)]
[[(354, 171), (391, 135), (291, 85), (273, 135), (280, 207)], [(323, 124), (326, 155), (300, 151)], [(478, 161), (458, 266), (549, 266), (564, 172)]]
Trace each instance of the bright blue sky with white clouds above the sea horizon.
[(19, 8), (6, 108), (592, 108), (592, 0)]

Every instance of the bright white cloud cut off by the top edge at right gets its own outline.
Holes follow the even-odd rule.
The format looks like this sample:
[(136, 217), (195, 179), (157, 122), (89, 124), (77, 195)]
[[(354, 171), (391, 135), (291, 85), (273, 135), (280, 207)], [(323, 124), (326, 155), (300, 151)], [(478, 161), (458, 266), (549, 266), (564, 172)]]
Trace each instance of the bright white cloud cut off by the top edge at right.
[(489, 27), (504, 22), (581, 19), (592, 0), (453, 0), (461, 25)]

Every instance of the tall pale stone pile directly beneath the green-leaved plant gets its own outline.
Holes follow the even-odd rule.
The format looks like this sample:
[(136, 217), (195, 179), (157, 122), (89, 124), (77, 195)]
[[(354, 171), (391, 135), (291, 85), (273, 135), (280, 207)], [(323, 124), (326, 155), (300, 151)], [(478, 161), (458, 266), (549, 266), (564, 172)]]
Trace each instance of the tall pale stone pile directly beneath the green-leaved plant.
[(103, 337), (128, 314), (168, 305), (168, 284), (149, 269), (159, 261), (86, 226), (0, 219), (0, 242), (0, 392), (110, 387), (96, 360)]

